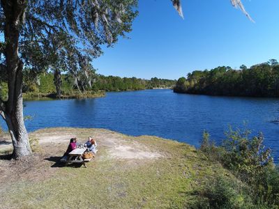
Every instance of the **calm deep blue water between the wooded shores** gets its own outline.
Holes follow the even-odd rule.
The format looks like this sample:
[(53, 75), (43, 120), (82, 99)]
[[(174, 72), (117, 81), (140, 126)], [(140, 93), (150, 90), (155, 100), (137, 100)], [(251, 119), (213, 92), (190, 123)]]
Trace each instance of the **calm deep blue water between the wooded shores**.
[(107, 93), (105, 98), (24, 102), (34, 116), (27, 130), (44, 127), (102, 127), (124, 134), (156, 135), (199, 146), (203, 130), (221, 141), (228, 125), (248, 123), (263, 132), (266, 146), (279, 157), (279, 99), (176, 94), (171, 90)]

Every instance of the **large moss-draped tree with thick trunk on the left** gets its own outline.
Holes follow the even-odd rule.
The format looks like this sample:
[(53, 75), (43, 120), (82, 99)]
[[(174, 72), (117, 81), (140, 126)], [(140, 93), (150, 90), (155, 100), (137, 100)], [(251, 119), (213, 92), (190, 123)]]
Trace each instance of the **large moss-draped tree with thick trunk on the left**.
[(66, 66), (77, 75), (83, 57), (91, 61), (102, 54), (100, 45), (112, 46), (131, 31), (136, 6), (133, 0), (1, 0), (1, 72), (8, 100), (0, 100), (0, 114), (13, 141), (13, 157), (31, 153), (22, 112), (24, 64), (34, 71)]

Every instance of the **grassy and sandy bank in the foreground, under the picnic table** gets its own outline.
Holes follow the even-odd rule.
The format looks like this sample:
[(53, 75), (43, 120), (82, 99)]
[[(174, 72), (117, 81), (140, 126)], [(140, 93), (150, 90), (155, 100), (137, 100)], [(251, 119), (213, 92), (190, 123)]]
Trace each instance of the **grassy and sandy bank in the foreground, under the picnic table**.
[[(69, 139), (89, 136), (98, 141), (95, 160), (87, 169), (63, 167), (59, 159)], [(1, 137), (0, 208), (188, 208), (207, 180), (233, 178), (193, 146), (158, 137), (79, 128), (48, 128), (30, 137), (40, 146), (19, 161), (4, 160), (11, 145)]]

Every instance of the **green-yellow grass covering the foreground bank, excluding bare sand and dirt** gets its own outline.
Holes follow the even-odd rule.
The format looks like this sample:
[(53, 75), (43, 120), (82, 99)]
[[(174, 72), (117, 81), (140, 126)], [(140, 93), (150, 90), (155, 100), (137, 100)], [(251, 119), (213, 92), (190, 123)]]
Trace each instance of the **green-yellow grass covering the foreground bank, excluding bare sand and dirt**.
[[(75, 130), (78, 137), (103, 131), (70, 130)], [(206, 180), (216, 173), (230, 175), (188, 144), (158, 137), (121, 136), (128, 144), (148, 146), (165, 157), (112, 159), (109, 149), (100, 146), (96, 160), (90, 162), (87, 169), (50, 168), (53, 162), (48, 162), (38, 167), (46, 172), (55, 169), (47, 178), (17, 180), (12, 177), (9, 183), (2, 185), (0, 208), (187, 208)]]

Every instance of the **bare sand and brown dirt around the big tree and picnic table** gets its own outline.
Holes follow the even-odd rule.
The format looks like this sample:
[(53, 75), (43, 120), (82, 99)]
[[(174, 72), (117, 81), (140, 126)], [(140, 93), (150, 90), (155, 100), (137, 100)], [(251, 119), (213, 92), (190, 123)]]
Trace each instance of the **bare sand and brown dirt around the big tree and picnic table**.
[(110, 130), (58, 128), (38, 130), (29, 136), (38, 139), (39, 150), (32, 156), (20, 160), (8, 160), (8, 155), (3, 150), (11, 149), (12, 143), (8, 136), (0, 137), (0, 151), (3, 153), (0, 154), (0, 184), (10, 180), (10, 176), (14, 176), (17, 180), (26, 178), (40, 180), (51, 176), (56, 169), (59, 169), (53, 168), (53, 164), (59, 162), (72, 137), (77, 137), (80, 142), (85, 142), (89, 136), (96, 139), (98, 160), (109, 157), (112, 160), (129, 160), (137, 163), (143, 159), (156, 160), (163, 157), (162, 153), (150, 150), (149, 147), (137, 142), (134, 137)]

